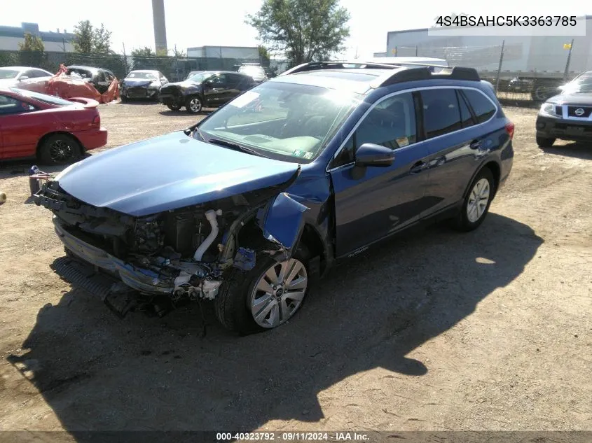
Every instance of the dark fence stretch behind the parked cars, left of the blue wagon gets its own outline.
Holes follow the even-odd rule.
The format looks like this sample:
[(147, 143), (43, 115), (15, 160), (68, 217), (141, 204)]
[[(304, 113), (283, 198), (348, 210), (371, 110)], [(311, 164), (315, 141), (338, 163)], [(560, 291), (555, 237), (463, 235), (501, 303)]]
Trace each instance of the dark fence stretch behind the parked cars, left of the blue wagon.
[[(191, 71), (237, 71), (242, 63), (260, 63), (259, 59), (235, 59), (220, 57), (139, 57), (120, 54), (81, 54), (78, 52), (37, 52), (0, 50), (0, 66), (31, 66), (57, 72), (60, 64), (78, 64), (109, 69), (117, 78), (125, 78), (134, 69), (156, 69), (170, 81), (184, 80)], [(271, 60), (268, 70), (277, 74), (287, 69), (285, 60)]]

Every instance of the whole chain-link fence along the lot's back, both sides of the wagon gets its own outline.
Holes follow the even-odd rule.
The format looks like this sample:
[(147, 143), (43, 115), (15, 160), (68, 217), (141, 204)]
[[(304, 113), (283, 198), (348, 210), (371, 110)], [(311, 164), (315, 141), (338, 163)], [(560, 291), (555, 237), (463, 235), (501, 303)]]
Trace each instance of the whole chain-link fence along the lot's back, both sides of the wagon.
[[(537, 57), (525, 62), (522, 45), (503, 43), (495, 46), (464, 47), (396, 46), (386, 55), (441, 58), (446, 59), (450, 66), (475, 68), (481, 78), (493, 83), (500, 99), (516, 104), (536, 104), (544, 101), (558, 92), (559, 85), (574, 78), (579, 71), (584, 71), (588, 63), (586, 57), (570, 57), (571, 48), (559, 54), (557, 51), (538, 51)], [(184, 80), (191, 71), (237, 71), (242, 63), (260, 63), (266, 66), (263, 59), (0, 51), (0, 66), (32, 66), (57, 72), (60, 64), (80, 64), (109, 69), (120, 79), (133, 69), (156, 69), (164, 73), (170, 81), (179, 81)], [(289, 66), (286, 60), (271, 60), (266, 67), (268, 71), (277, 75)]]

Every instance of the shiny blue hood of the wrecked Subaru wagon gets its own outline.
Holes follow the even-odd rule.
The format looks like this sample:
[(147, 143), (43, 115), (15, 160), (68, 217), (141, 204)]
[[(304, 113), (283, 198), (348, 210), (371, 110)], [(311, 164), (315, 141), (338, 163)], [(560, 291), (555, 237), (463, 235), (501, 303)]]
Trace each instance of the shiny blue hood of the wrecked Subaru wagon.
[(146, 216), (280, 185), (297, 170), (179, 131), (92, 155), (55, 180), (85, 203)]

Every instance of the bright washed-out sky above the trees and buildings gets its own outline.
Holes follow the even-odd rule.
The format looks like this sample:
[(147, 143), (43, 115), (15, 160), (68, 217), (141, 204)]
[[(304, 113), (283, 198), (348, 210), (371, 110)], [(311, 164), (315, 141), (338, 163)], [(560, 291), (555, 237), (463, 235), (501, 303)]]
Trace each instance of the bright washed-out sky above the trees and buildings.
[[(8, 0), (5, 0), (8, 1)], [(42, 31), (72, 31), (79, 20), (104, 23), (113, 31), (112, 48), (117, 52), (148, 45), (153, 47), (151, 0), (26, 0), (26, 7), (2, 8), (0, 24), (19, 26), (36, 22)], [(544, 4), (547, 3), (547, 4)], [(450, 13), (469, 15), (583, 15), (592, 8), (585, 0), (520, 3), (516, 0), (341, 0), (352, 15), (347, 58), (370, 57), (385, 50), (387, 31), (429, 27), (435, 17)], [(48, 7), (50, 5), (50, 7)], [(92, 5), (92, 7), (91, 7)], [(186, 50), (202, 45), (256, 45), (256, 32), (244, 23), (247, 13), (259, 9), (261, 0), (165, 0), (169, 48)]]

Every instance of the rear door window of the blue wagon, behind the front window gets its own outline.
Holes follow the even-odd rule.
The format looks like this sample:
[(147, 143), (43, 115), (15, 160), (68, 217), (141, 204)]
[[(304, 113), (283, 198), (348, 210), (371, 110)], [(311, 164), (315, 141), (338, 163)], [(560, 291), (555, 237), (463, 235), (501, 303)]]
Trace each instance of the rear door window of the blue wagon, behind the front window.
[(424, 90), (421, 97), (426, 139), (433, 139), (462, 128), (455, 90)]

